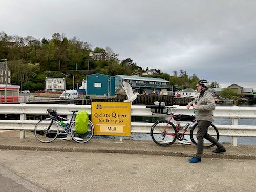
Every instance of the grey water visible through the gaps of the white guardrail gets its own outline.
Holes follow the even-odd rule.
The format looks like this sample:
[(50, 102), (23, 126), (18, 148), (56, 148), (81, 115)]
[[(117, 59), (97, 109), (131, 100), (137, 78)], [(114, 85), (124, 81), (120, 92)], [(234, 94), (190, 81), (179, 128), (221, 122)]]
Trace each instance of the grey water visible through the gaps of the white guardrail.
[[(256, 104), (252, 105), (256, 107)], [(134, 121), (134, 120), (133, 120)], [(137, 122), (145, 122), (145, 121), (156, 121), (156, 119), (151, 119), (151, 120), (142, 120), (141, 117), (139, 119), (135, 119)], [(232, 124), (231, 119), (223, 119), (223, 118), (215, 118), (214, 124), (222, 124), (222, 125), (229, 125)], [(256, 125), (256, 119), (238, 119), (238, 125)], [(94, 136), (94, 137), (99, 137), (99, 136)], [(108, 139), (119, 139), (117, 136), (100, 136), (100, 138), (108, 138)], [(131, 134), (131, 137), (123, 137), (124, 139), (132, 139), (132, 140), (141, 140), (141, 141), (152, 141), (152, 138), (150, 134)], [(186, 137), (187, 138), (187, 137)], [(187, 138), (188, 140), (189, 137)], [(220, 137), (219, 139), (220, 142), (225, 142), (225, 143), (231, 143), (231, 137)], [(153, 142), (153, 141), (152, 141)], [(255, 137), (238, 137), (238, 144), (251, 144), (251, 145), (256, 145), (256, 138)]]

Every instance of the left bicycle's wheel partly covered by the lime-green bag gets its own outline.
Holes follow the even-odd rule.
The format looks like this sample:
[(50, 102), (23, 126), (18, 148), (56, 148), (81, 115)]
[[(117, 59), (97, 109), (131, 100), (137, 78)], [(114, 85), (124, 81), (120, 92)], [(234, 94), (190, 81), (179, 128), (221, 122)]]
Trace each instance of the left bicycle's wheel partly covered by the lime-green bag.
[(93, 123), (89, 120), (88, 121), (88, 129), (87, 132), (84, 134), (79, 134), (76, 133), (75, 130), (75, 122), (71, 125), (70, 128), (70, 134), (71, 137), (78, 143), (87, 143), (88, 141), (90, 141), (94, 135), (94, 125)]

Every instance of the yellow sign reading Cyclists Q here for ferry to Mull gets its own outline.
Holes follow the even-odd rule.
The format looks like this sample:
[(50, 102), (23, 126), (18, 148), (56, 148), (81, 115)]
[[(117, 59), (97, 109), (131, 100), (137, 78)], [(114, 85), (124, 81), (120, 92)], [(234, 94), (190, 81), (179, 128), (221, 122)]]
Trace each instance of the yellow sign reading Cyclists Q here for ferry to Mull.
[(94, 135), (131, 136), (131, 103), (92, 102)]

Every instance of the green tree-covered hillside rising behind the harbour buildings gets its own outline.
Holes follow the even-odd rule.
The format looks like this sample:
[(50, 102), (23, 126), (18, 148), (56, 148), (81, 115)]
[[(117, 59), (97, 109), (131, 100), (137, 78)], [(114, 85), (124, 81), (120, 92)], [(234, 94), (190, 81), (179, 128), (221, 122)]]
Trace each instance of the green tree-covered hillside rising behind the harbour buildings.
[[(88, 74), (115, 76), (136, 72), (142, 76), (146, 71), (131, 58), (120, 60), (119, 55), (110, 47), (92, 47), (89, 42), (83, 42), (77, 37), (68, 39), (65, 34), (60, 33), (54, 33), (52, 39), (35, 39), (31, 36), (11, 36), (0, 32), (0, 58), (8, 60), (8, 67), (12, 71), (12, 84), (22, 84), (23, 90), (44, 90), (45, 77), (63, 78), (63, 74), (68, 74), (67, 89), (72, 89), (74, 85), (75, 88), (80, 86), (82, 79), (86, 79)], [(109, 59), (96, 61), (89, 56), (91, 52), (105, 53)], [(172, 75), (162, 73), (160, 69), (156, 71), (159, 75), (150, 77), (170, 81), (175, 90), (195, 88), (199, 80), (196, 74), (189, 76), (185, 70), (173, 71)], [(212, 83), (212, 87), (218, 87), (218, 83)]]

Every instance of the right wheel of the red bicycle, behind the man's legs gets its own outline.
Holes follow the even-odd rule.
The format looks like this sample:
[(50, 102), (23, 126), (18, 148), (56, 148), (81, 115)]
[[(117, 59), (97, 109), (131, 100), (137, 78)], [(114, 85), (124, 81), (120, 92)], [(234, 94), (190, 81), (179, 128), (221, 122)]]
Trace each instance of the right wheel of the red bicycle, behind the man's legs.
[[(198, 122), (190, 130), (190, 139), (195, 145), (197, 145), (197, 127), (198, 127)], [(210, 126), (208, 127), (207, 133), (210, 134), (212, 137), (214, 137), (217, 141), (219, 141), (220, 135), (215, 125), (210, 124)], [(215, 146), (215, 144), (212, 144), (208, 140), (204, 139), (204, 148), (211, 148), (213, 146)]]

